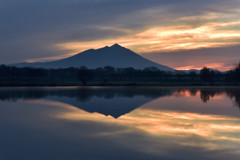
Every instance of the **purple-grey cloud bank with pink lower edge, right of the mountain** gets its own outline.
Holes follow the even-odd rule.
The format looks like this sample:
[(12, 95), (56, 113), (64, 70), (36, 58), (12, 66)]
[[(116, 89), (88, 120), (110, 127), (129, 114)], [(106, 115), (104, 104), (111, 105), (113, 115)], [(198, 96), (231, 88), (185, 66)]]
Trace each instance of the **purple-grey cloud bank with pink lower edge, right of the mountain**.
[(240, 60), (240, 45), (201, 48), (174, 52), (155, 52), (143, 55), (161, 64), (178, 69), (201, 69), (204, 65), (226, 71)]

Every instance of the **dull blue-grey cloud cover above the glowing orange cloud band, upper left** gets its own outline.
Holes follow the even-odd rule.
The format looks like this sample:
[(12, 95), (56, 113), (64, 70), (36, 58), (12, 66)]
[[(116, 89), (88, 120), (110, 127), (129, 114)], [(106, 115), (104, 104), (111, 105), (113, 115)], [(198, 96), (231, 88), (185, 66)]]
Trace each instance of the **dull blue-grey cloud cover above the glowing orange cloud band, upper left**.
[[(230, 12), (219, 0), (0, 0), (0, 63), (64, 54), (53, 46), (127, 35), (169, 19)], [(176, 22), (179, 23), (179, 22)], [(119, 27), (129, 32), (101, 29)], [(13, 58), (14, 57), (14, 58)]]

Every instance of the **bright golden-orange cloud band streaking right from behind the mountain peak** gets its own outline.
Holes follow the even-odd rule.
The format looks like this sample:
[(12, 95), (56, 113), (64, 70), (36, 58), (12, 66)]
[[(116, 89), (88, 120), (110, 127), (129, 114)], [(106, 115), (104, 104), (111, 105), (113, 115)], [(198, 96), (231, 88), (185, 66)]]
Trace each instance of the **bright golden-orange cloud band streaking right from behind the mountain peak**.
[(199, 27), (188, 25), (152, 27), (136, 33), (115, 39), (104, 39), (90, 42), (69, 42), (58, 44), (63, 50), (83, 51), (88, 48), (99, 48), (103, 44), (120, 43), (134, 49), (136, 52), (176, 51), (198, 48), (223, 47), (240, 44), (240, 31), (218, 30), (217, 27), (226, 27), (240, 24), (239, 21), (228, 23), (206, 23)]

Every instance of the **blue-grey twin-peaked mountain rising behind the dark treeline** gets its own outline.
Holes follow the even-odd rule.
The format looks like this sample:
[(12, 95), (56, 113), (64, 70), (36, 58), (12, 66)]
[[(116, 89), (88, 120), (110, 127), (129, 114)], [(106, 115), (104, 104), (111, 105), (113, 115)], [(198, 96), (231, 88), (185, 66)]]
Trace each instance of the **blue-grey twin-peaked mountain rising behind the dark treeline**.
[(112, 66), (115, 68), (133, 67), (135, 69), (157, 67), (158, 69), (164, 71), (174, 71), (172, 68), (152, 62), (118, 44), (115, 44), (111, 47), (106, 46), (96, 50), (89, 49), (72, 57), (57, 61), (18, 63), (11, 64), (11, 66), (35, 68), (67, 68), (80, 66), (86, 66), (87, 68), (98, 68)]

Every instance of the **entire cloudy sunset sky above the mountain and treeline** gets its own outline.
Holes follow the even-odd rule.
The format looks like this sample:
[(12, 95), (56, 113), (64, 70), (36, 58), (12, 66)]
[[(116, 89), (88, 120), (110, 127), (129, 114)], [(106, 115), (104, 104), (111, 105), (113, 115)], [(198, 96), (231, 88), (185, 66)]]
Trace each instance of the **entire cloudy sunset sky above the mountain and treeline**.
[(0, 0), (0, 64), (118, 43), (175, 69), (240, 61), (239, 0)]

